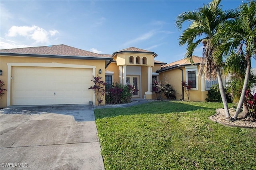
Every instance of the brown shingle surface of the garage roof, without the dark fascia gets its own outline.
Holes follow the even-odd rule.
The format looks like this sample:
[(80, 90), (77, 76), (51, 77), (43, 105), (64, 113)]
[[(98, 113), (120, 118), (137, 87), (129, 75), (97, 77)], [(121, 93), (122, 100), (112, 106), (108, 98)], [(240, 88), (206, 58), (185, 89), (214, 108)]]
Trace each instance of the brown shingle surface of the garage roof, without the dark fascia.
[(97, 54), (68, 45), (50, 45), (42, 47), (27, 47), (18, 49), (2, 49), (1, 53), (35, 54), (35, 55), (61, 55), (61, 56), (86, 56), (86, 57), (111, 57), (111, 55)]

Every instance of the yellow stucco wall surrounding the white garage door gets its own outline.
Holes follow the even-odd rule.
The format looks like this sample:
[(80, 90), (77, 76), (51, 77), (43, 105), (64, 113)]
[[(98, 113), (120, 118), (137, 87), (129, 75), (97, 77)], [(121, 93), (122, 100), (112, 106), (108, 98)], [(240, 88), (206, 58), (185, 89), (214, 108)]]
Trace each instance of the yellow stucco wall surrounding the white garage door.
[[(1, 80), (4, 82), (4, 88), (7, 89), (7, 63), (62, 63), (62, 64), (79, 64), (79, 65), (90, 65), (96, 66), (95, 76), (102, 76), (102, 80), (105, 81), (105, 61), (104, 60), (78, 60), (78, 59), (55, 59), (55, 58), (40, 58), (40, 57), (11, 57), (11, 56), (0, 56), (0, 68), (3, 71)], [(102, 70), (102, 74), (98, 74), (98, 70)], [(12, 87), (11, 87), (12, 88)], [(10, 89), (7, 89), (10, 90)], [(11, 91), (10, 91), (11, 92)], [(1, 107), (7, 106), (7, 93), (2, 97), (0, 105)], [(12, 95), (11, 95), (12, 96)], [(12, 100), (12, 99), (11, 99)], [(97, 101), (95, 101), (97, 105)], [(105, 99), (102, 104), (105, 104)]]

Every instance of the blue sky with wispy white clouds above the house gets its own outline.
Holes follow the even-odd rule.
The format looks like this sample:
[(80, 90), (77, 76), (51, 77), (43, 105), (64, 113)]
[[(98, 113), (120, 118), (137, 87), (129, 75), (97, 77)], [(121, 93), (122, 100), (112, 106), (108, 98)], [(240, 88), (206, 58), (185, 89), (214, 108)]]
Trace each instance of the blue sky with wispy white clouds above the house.
[[(0, 48), (65, 44), (112, 54), (137, 47), (155, 52), (158, 61), (171, 63), (182, 59), (186, 52), (186, 45), (179, 46), (182, 31), (175, 26), (176, 17), (209, 2), (1, 0)], [(222, 0), (221, 4), (223, 10), (234, 9), (242, 0)], [(194, 55), (202, 57), (202, 45)]]

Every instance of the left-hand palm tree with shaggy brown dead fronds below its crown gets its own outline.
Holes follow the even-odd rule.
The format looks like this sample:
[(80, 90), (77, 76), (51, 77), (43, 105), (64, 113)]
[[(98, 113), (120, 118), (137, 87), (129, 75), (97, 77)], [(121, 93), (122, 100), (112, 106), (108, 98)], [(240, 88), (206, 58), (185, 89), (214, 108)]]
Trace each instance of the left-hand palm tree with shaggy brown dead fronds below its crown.
[[(191, 21), (187, 29), (180, 36), (180, 45), (187, 44), (185, 58), (191, 63), (194, 49), (202, 42), (204, 45), (203, 61), (200, 64), (199, 75), (204, 75), (207, 80), (218, 78), (220, 94), (225, 109), (226, 120), (230, 120), (228, 102), (226, 99), (224, 86), (221, 78), (222, 64), (216, 64), (213, 59), (214, 45), (211, 39), (218, 30), (219, 25), (232, 18), (236, 18), (237, 13), (234, 10), (222, 11), (220, 0), (213, 0), (208, 5), (198, 8), (196, 11), (183, 12), (176, 19), (176, 26), (182, 29), (184, 21)], [(196, 40), (197, 39), (197, 40)], [(196, 40), (196, 41), (195, 41)]]

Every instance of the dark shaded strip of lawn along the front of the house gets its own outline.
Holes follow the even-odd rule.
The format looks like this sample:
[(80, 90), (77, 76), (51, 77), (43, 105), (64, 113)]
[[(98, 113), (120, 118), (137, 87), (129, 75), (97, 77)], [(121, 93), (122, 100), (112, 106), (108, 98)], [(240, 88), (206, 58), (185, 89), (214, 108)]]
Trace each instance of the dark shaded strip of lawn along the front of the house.
[(196, 106), (196, 103), (193, 104), (193, 102), (157, 101), (131, 107), (94, 109), (94, 113), (95, 118), (98, 119), (103, 117), (114, 117), (119, 115), (182, 113), (202, 109), (209, 111), (216, 109), (212, 106)]

